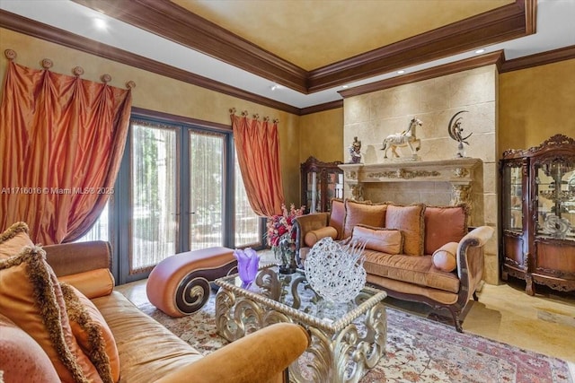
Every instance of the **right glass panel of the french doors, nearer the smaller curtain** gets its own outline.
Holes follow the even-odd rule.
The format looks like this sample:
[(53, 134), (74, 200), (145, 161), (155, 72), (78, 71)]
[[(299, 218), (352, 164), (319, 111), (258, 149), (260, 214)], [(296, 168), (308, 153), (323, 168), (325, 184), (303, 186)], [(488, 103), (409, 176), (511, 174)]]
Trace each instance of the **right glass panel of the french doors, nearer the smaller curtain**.
[(190, 250), (224, 245), (226, 135), (190, 131)]

